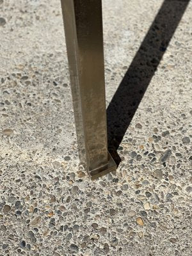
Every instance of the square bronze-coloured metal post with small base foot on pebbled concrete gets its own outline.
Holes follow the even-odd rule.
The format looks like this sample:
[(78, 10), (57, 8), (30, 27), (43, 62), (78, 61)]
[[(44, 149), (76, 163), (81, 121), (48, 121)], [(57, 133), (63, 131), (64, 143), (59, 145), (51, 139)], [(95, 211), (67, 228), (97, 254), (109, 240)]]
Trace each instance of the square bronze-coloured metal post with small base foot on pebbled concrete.
[(61, 0), (79, 158), (96, 179), (116, 170), (108, 153), (101, 0)]

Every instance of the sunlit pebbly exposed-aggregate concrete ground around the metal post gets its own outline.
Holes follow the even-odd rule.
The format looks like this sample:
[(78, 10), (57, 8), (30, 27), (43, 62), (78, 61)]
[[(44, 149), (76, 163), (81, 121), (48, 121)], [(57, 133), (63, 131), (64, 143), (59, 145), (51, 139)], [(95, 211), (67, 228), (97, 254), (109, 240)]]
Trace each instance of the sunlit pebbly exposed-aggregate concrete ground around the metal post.
[(148, 33), (162, 0), (103, 1), (107, 104), (122, 87), (109, 131), (122, 162), (91, 182), (77, 157), (60, 1), (0, 0), (1, 256), (191, 255), (186, 3), (164, 1)]

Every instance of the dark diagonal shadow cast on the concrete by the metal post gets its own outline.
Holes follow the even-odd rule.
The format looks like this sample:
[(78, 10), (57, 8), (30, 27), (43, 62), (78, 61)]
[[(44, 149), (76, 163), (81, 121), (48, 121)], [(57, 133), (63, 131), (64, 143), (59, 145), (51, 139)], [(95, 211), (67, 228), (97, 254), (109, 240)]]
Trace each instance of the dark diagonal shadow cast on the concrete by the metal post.
[(150, 80), (184, 14), (189, 0), (164, 0), (140, 49), (118, 86), (108, 109), (108, 148), (120, 163), (116, 152), (131, 123)]

